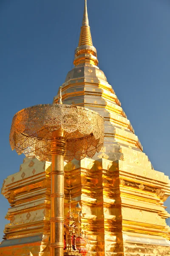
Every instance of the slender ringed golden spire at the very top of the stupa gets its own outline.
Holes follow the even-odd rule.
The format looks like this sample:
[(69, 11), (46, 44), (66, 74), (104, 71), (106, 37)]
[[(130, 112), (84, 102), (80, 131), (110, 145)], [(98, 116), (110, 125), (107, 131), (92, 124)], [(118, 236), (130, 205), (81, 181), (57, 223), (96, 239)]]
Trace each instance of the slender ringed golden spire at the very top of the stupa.
[(88, 21), (88, 11), (87, 11), (87, 0), (85, 0), (85, 7), (82, 19), (82, 27), (79, 37), (79, 45), (75, 50), (74, 65), (87, 63), (97, 66), (97, 52), (96, 48), (93, 46), (91, 31)]

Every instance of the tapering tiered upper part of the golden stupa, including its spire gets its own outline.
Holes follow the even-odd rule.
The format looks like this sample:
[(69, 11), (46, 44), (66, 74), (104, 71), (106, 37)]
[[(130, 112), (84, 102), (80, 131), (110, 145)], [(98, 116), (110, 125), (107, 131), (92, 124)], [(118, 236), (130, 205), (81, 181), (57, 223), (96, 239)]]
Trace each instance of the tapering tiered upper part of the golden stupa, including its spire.
[[(142, 145), (119, 99), (108, 83), (104, 72), (97, 66), (97, 52), (92, 44), (86, 0), (74, 65), (75, 67), (68, 72), (62, 84), (62, 100), (64, 104), (95, 110), (104, 117), (105, 147), (103, 151), (107, 153), (103, 152), (102, 157), (109, 160), (117, 159), (116, 148), (113, 148), (113, 145), (125, 145), (142, 151)], [(54, 97), (54, 102), (57, 100), (58, 95)], [(101, 154), (98, 154), (99, 156)]]

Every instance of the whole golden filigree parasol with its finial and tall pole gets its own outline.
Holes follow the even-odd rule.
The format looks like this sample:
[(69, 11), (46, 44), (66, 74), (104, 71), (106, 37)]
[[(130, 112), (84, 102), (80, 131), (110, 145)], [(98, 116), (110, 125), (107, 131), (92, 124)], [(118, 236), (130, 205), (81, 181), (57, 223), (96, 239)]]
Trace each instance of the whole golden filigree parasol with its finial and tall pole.
[(10, 145), (18, 154), (50, 160), (52, 256), (63, 255), (64, 161), (93, 157), (103, 145), (104, 119), (87, 108), (58, 104), (36, 105), (14, 115)]

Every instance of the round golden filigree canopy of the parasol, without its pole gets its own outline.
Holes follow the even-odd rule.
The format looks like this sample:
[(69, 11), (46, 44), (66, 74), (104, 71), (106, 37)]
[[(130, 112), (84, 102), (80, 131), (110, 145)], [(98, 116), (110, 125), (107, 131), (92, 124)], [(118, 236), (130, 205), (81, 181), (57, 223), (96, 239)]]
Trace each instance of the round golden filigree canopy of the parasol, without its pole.
[(15, 114), (10, 132), (12, 150), (51, 161), (53, 132), (65, 131), (65, 161), (93, 157), (103, 145), (104, 120), (96, 112), (73, 105), (36, 105)]

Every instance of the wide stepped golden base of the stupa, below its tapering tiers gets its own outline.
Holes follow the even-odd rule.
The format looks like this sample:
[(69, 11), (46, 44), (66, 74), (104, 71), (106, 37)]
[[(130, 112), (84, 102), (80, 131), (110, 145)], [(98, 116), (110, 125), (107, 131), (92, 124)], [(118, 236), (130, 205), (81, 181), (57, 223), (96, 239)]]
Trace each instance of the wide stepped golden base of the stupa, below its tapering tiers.
[[(65, 215), (71, 190), (71, 207), (79, 201), (86, 212), (82, 230), (87, 231), (87, 256), (169, 256), (164, 207), (169, 179), (146, 168), (142, 152), (138, 159), (145, 170), (133, 159), (129, 162), (126, 150), (121, 148), (121, 160), (65, 163)], [(50, 172), (50, 162), (26, 157), (20, 172), (4, 181), (2, 192), (11, 208), (0, 256), (50, 256)]]

